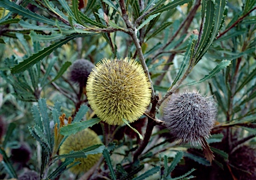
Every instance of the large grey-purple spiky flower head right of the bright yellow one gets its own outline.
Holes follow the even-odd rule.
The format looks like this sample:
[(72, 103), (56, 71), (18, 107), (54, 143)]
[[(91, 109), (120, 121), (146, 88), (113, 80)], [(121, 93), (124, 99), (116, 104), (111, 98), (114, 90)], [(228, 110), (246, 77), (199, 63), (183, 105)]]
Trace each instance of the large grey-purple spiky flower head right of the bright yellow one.
[(217, 107), (212, 97), (196, 92), (173, 95), (163, 112), (163, 121), (170, 133), (183, 143), (202, 145), (215, 124)]

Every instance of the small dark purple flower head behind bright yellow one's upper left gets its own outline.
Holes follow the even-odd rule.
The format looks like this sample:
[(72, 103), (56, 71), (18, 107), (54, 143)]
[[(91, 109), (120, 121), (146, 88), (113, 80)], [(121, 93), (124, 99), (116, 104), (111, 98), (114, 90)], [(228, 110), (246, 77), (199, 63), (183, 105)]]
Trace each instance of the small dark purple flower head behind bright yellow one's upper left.
[(94, 64), (89, 60), (83, 58), (75, 60), (71, 66), (69, 78), (80, 86), (85, 86), (87, 78), (94, 67)]

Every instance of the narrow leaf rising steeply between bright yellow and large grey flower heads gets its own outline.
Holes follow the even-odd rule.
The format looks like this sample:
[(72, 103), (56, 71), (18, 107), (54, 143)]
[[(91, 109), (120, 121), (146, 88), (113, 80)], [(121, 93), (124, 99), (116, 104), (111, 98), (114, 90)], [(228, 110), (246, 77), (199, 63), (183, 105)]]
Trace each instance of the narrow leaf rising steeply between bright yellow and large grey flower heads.
[(181, 77), (181, 74), (183, 74), (183, 71), (185, 70), (185, 67), (187, 66), (187, 64), (189, 64), (189, 60), (191, 59), (192, 48), (195, 47), (195, 40), (196, 39), (197, 39), (197, 37), (195, 35), (191, 35), (191, 37), (189, 39), (189, 45), (187, 46), (187, 50), (185, 52), (185, 55), (183, 57), (183, 61), (181, 62), (181, 66), (179, 68), (179, 72), (178, 72), (177, 76), (175, 77), (175, 79), (173, 80), (173, 83), (171, 84), (171, 87), (169, 89), (171, 89), (176, 84), (176, 82)]

